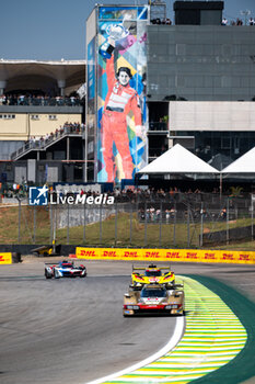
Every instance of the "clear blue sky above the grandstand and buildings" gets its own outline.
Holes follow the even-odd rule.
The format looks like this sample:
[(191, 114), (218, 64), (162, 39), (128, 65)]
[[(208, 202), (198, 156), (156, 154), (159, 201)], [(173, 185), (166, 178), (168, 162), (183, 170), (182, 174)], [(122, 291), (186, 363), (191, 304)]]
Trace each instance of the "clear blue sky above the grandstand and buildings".
[[(147, 0), (2, 0), (0, 7), (0, 58), (79, 60), (85, 58), (85, 21), (94, 4), (144, 4)], [(173, 0), (166, 0), (174, 20)], [(225, 0), (223, 16), (255, 18), (255, 0)], [(250, 16), (247, 16), (247, 20)], [(255, 25), (254, 25), (255, 29)]]

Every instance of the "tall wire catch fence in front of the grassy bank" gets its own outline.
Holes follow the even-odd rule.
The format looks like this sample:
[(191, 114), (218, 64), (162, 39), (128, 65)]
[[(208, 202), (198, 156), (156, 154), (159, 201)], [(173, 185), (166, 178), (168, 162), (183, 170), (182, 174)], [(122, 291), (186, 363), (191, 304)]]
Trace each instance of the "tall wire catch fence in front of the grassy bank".
[(206, 193), (118, 196), (114, 204), (1, 205), (1, 244), (210, 248), (254, 239), (254, 199)]

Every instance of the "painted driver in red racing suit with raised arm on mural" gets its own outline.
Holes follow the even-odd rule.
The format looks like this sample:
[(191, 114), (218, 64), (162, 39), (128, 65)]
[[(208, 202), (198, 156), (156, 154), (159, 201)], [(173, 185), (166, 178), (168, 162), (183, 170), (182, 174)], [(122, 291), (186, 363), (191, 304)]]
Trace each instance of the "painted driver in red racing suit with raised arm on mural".
[(115, 144), (123, 165), (125, 179), (132, 179), (134, 160), (129, 148), (127, 116), (134, 115), (136, 136), (144, 139), (146, 129), (142, 126), (142, 115), (139, 95), (130, 87), (131, 70), (128, 67), (119, 67), (115, 77), (114, 55), (115, 39), (108, 37), (106, 59), (106, 76), (108, 91), (105, 98), (102, 116), (102, 146), (107, 173), (107, 181), (115, 180), (113, 145)]

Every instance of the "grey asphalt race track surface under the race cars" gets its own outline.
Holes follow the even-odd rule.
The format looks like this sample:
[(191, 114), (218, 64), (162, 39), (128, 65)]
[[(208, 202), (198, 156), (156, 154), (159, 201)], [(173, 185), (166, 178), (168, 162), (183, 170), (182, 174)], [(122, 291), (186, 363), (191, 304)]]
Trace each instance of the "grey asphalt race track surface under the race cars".
[[(85, 279), (45, 280), (44, 262), (51, 260), (24, 256), (0, 267), (1, 384), (84, 384), (167, 342), (175, 317), (123, 317), (131, 262), (84, 261)], [(255, 266), (172, 267), (176, 274), (217, 279), (255, 302)]]

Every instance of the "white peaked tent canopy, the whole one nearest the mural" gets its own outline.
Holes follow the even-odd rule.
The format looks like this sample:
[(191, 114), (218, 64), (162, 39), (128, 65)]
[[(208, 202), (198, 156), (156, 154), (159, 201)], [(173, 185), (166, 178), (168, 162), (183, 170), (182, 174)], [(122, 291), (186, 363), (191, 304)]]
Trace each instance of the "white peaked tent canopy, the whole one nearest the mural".
[(138, 173), (219, 173), (219, 171), (176, 144)]

